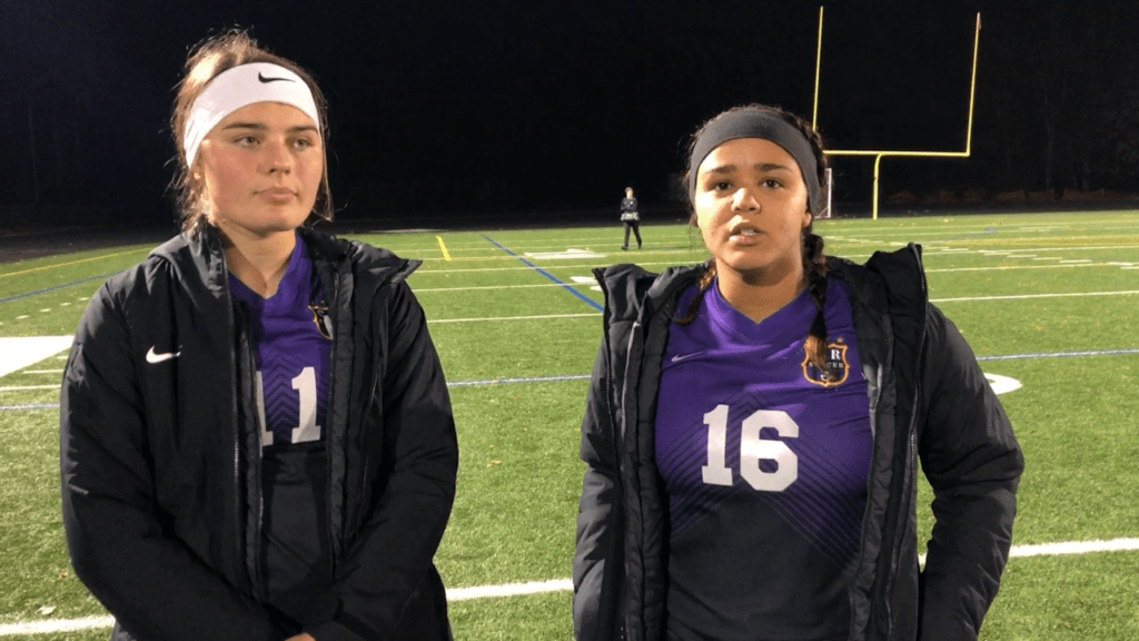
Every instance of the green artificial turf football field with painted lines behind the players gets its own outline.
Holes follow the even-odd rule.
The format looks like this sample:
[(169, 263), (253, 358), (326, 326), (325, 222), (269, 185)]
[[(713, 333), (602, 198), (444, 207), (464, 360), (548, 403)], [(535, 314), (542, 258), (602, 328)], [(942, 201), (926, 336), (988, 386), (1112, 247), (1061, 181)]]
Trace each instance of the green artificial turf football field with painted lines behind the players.
[[(931, 298), (986, 373), (1022, 386), (1000, 396), (1026, 460), (1014, 558), (981, 638), (1139, 640), (1139, 212), (822, 220), (816, 230), (827, 253), (859, 262), (920, 243)], [(600, 338), (590, 269), (707, 255), (687, 226), (641, 233), (644, 249), (628, 252), (618, 226), (358, 236), (424, 260), (410, 283), (459, 433), (458, 497), (436, 563), (460, 641), (572, 639), (579, 427)], [(69, 335), (103, 281), (149, 249), (0, 263), (0, 366), (10, 338)], [(5, 641), (109, 631), (72, 574), (60, 525), (65, 357), (0, 376)], [(924, 541), (925, 486), (919, 498)], [(1068, 542), (1083, 545), (1047, 545)], [(92, 616), (103, 618), (77, 620)]]

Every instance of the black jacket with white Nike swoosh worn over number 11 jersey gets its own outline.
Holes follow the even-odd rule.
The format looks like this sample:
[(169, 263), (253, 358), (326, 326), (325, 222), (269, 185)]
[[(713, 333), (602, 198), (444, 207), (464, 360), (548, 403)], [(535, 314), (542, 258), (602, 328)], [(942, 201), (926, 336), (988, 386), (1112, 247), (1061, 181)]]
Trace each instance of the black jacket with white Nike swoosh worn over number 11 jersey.
[[(328, 620), (310, 630), (321, 641), (449, 639), (432, 558), (458, 449), (423, 308), (404, 283), (419, 262), (302, 236), (334, 335), (336, 581), (322, 605)], [(64, 520), (76, 574), (116, 612), (113, 640), (285, 636), (257, 599), (255, 366), (236, 315), (221, 243), (207, 228), (112, 278), (79, 327), (62, 397)], [(150, 349), (177, 356), (148, 363)]]

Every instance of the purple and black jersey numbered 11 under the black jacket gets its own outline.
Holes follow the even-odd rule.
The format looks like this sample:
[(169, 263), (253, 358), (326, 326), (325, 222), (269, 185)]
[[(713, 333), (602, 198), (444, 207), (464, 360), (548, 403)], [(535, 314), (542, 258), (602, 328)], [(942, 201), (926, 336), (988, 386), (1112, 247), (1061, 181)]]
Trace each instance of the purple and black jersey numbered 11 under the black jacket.
[(323, 302), (314, 282), (300, 237), (272, 297), (229, 277), (230, 292), (248, 310), (255, 344), (265, 591), (270, 603), (297, 622), (313, 616), (321, 602), (314, 597), (331, 581), (323, 429), (331, 340), (327, 317), (313, 310), (312, 303)]

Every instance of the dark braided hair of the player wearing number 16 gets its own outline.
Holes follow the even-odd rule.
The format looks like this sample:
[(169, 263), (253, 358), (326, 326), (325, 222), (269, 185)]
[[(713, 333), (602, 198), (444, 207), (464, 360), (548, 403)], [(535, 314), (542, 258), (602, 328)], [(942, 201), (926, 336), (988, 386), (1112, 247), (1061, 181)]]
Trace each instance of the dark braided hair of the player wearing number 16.
[[(819, 173), (819, 182), (825, 184), (826, 171), (827, 171), (827, 156), (822, 153), (823, 143), (822, 136), (816, 131), (809, 122), (802, 117), (781, 109), (780, 107), (769, 106), (769, 105), (740, 105), (731, 107), (730, 109), (723, 112), (731, 113), (737, 111), (767, 111), (771, 112), (788, 124), (795, 127), (803, 133), (806, 140), (811, 144), (811, 148), (814, 151), (816, 156), (816, 168)], [(707, 129), (708, 124), (722, 114), (716, 114), (715, 117), (710, 119), (704, 124), (693, 133), (691, 139), (688, 144), (688, 157), (691, 159), (693, 151), (696, 147), (697, 140)], [(691, 163), (691, 160), (689, 161)], [(699, 162), (698, 160), (696, 162)], [(697, 167), (689, 167), (685, 172), (685, 184), (688, 184), (689, 179), (696, 173)], [(691, 214), (689, 217), (689, 222), (696, 225), (696, 209), (691, 201), (689, 201), (689, 206), (691, 208)], [(823, 316), (823, 308), (827, 302), (827, 258), (822, 253), (822, 237), (814, 234), (812, 227), (814, 225), (813, 214), (818, 213), (812, 211), (811, 222), (803, 228), (802, 235), (802, 255), (803, 255), (803, 273), (808, 278), (808, 289), (811, 293), (811, 300), (814, 302), (817, 313), (814, 315), (814, 322), (811, 323), (811, 330), (806, 336), (806, 354), (809, 355), (810, 363), (814, 365), (819, 371), (826, 372), (827, 374), (834, 374), (830, 367), (827, 365), (827, 324)], [(704, 263), (704, 270), (697, 278), (697, 286), (699, 286), (699, 292), (703, 294), (713, 283), (716, 275), (716, 263), (715, 257), (712, 257)], [(700, 300), (703, 295), (697, 295), (693, 299), (693, 302), (685, 310), (685, 314), (674, 318), (674, 322), (681, 325), (687, 325), (696, 319), (696, 314), (699, 311)]]

